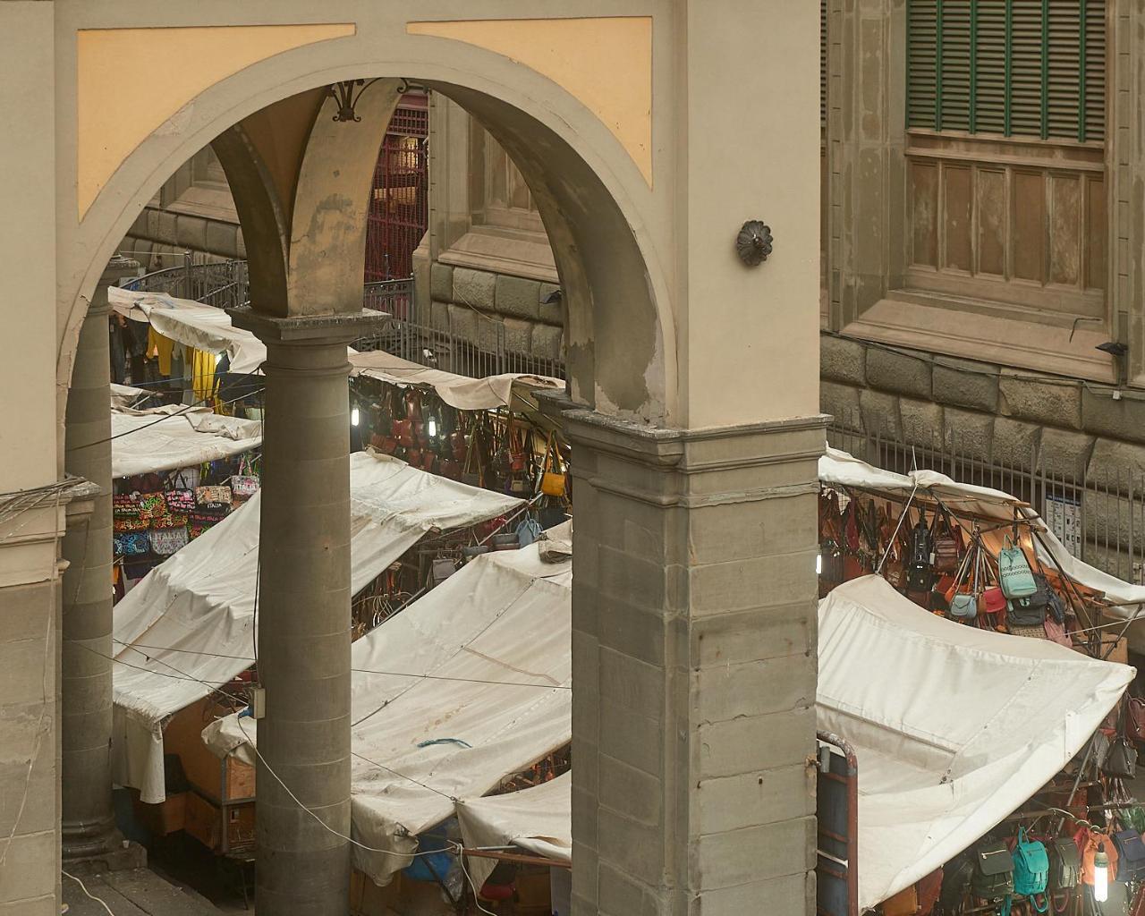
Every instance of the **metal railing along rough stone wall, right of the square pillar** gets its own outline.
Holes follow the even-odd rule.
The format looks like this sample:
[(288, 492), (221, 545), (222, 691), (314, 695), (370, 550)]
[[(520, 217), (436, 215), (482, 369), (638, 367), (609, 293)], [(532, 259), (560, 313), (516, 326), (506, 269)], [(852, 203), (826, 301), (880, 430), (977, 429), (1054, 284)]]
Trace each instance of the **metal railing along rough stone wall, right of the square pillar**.
[(949, 432), (908, 441), (901, 431), (864, 429), (859, 416), (836, 417), (827, 441), (887, 471), (938, 471), (1012, 493), (1041, 514), (1071, 554), (1145, 585), (1145, 474), (1136, 467), (1091, 467), (1036, 442), (998, 455), (988, 440)]

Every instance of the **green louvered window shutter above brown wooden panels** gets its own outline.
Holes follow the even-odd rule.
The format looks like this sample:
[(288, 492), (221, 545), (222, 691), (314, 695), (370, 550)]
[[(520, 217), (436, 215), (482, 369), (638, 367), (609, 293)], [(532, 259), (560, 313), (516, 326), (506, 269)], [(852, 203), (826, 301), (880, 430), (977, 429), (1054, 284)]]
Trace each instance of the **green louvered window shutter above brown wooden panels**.
[(908, 125), (1101, 141), (1105, 3), (908, 0)]

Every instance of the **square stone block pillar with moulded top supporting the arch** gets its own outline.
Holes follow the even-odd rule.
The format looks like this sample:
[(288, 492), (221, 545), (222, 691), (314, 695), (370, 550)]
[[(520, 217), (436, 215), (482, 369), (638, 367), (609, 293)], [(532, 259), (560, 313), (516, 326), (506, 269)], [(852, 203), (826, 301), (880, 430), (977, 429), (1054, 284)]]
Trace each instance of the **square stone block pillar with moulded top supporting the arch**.
[(572, 911), (810, 916), (824, 418), (564, 419)]

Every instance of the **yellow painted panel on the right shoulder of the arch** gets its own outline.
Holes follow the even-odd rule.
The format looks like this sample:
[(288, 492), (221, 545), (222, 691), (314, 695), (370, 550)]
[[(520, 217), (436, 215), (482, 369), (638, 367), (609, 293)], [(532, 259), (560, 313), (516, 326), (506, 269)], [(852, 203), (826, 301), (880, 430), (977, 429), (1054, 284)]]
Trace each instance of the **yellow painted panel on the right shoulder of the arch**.
[(652, 17), (411, 22), (411, 34), (451, 38), (536, 70), (611, 131), (652, 187)]

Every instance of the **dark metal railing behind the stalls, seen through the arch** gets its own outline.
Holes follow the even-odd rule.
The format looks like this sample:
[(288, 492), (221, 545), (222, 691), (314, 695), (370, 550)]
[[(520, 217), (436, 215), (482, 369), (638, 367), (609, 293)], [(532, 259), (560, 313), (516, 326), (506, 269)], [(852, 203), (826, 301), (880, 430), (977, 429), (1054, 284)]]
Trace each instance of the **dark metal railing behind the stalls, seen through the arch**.
[[(216, 308), (234, 308), (250, 302), (246, 261), (192, 263), (187, 255), (182, 266), (147, 274), (125, 283), (124, 289), (166, 293)], [(472, 333), (466, 333), (472, 329), (472, 322), (461, 327), (452, 313), (448, 313), (444, 326), (421, 323), (410, 277), (364, 284), (362, 306), (385, 311), (394, 319), (380, 334), (355, 341), (355, 349), (380, 349), (410, 362), (472, 378), (506, 372), (564, 378), (563, 361), (511, 347), (505, 325), (500, 322), (479, 316), (475, 339)]]

